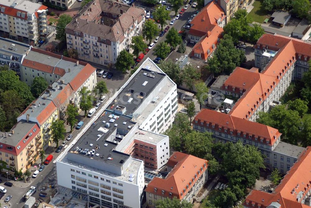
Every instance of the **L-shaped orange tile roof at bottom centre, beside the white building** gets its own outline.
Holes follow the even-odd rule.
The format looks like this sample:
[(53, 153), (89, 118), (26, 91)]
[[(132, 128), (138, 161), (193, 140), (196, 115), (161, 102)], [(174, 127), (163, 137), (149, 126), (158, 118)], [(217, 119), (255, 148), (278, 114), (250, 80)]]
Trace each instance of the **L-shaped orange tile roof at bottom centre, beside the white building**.
[[(155, 194), (156, 188), (157, 195), (169, 197), (169, 193), (172, 193), (172, 197), (176, 196), (178, 199), (182, 200), (202, 173), (207, 170), (207, 160), (181, 152), (174, 152), (169, 158), (168, 163), (177, 164), (165, 179), (154, 177), (145, 189), (146, 192)], [(198, 173), (198, 171), (200, 171), (200, 173)], [(195, 177), (196, 174), (197, 177)], [(164, 194), (162, 194), (162, 190)], [(181, 193), (183, 194), (181, 195)]]

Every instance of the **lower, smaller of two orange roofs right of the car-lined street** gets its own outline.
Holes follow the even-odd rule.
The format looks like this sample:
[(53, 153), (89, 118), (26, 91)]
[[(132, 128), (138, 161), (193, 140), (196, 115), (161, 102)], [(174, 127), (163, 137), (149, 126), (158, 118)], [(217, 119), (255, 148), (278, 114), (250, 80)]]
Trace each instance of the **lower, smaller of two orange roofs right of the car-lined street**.
[[(201, 59), (206, 60), (216, 50), (217, 40), (222, 36), (223, 31), (218, 25), (211, 26), (211, 31), (208, 31), (207, 35), (193, 47), (191, 56), (194, 57), (195, 53), (201, 54)], [(207, 53), (208, 50), (210, 50), (209, 54)]]

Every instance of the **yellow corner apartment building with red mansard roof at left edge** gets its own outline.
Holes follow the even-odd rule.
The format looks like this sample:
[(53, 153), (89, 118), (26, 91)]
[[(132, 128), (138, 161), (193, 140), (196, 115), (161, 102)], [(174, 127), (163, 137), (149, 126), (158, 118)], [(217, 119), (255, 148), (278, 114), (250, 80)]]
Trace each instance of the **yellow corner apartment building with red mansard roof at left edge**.
[(39, 126), (31, 121), (19, 121), (10, 132), (0, 132), (1, 169), (11, 175), (15, 170), (25, 172), (39, 158), (41, 149)]

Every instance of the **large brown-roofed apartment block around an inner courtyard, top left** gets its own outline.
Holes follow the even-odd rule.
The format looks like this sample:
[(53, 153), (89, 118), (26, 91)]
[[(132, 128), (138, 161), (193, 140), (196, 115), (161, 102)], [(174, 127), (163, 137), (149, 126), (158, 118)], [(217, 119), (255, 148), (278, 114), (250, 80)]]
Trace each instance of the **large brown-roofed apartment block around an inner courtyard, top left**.
[(95, 0), (66, 26), (67, 49), (77, 50), (85, 61), (114, 64), (120, 51), (132, 51), (132, 37), (141, 34), (145, 15), (134, 5)]

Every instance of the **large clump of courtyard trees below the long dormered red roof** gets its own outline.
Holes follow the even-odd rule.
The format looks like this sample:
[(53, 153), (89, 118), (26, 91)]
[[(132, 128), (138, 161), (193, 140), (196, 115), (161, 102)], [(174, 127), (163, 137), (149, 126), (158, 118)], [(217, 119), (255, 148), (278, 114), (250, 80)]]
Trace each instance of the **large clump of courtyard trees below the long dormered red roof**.
[(207, 159), (210, 175), (219, 173), (228, 179), (229, 188), (221, 191), (207, 207), (234, 205), (246, 195), (247, 188), (255, 185), (260, 168), (265, 168), (262, 154), (256, 147), (241, 142), (216, 143), (211, 133), (192, 130), (186, 114), (177, 114), (165, 134), (174, 150)]

